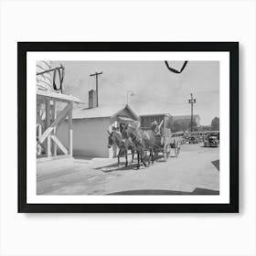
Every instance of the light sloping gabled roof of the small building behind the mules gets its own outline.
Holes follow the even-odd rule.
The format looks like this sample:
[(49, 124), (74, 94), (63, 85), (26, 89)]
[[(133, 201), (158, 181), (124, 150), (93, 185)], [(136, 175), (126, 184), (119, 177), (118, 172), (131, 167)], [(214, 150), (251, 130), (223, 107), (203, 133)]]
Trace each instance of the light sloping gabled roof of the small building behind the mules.
[(134, 120), (139, 120), (140, 118), (133, 112), (133, 110), (128, 105), (101, 105), (97, 108), (82, 108), (73, 110), (73, 119), (83, 119), (83, 118), (102, 118), (102, 117), (114, 117), (119, 112), (127, 109), (134, 117)]

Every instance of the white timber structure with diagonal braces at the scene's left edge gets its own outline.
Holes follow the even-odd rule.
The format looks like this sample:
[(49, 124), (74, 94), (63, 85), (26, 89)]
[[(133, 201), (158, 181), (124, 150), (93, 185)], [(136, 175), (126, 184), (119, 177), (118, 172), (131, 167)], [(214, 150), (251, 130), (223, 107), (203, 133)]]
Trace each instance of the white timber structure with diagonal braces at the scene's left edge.
[[(50, 73), (54, 70), (50, 61), (37, 61), (37, 162), (73, 155), (72, 110), (73, 103), (80, 103), (80, 100), (52, 88)], [(62, 106), (58, 114), (57, 104)], [(63, 145), (58, 129), (66, 118), (69, 128), (65, 137), (69, 143)]]

